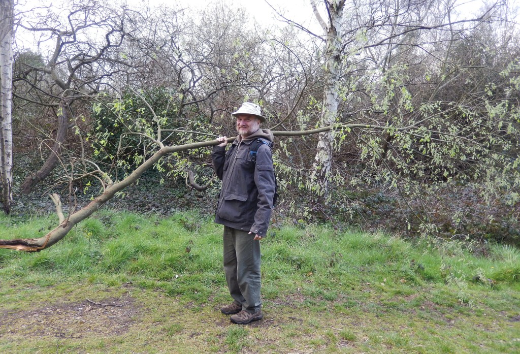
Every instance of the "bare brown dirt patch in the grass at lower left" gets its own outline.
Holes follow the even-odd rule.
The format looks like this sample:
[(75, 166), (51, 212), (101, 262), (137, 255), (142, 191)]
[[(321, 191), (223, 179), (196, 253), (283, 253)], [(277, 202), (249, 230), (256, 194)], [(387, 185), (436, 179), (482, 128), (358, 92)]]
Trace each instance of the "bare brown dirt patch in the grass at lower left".
[(0, 313), (0, 337), (31, 335), (83, 338), (121, 335), (136, 322), (139, 312), (139, 306), (129, 296), (3, 311)]

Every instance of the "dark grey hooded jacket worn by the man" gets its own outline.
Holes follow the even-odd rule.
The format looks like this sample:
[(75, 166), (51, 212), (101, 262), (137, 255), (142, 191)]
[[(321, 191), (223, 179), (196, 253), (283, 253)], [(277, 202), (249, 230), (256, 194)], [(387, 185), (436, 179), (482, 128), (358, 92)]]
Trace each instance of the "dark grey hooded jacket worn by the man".
[(274, 136), (268, 129), (258, 129), (246, 140), (239, 135), (227, 153), (226, 147), (213, 147), (213, 168), (222, 180), (215, 222), (264, 237), (271, 219), (276, 180), (267, 145), (258, 148), (256, 166), (251, 161), (249, 145), (257, 138), (272, 142)]

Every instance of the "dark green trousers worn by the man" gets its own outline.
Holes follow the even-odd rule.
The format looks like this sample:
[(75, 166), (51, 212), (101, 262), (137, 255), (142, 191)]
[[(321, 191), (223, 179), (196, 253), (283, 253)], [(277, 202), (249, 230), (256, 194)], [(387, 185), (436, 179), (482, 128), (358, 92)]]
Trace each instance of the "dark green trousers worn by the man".
[(224, 271), (231, 297), (248, 312), (262, 308), (260, 242), (248, 231), (224, 226)]

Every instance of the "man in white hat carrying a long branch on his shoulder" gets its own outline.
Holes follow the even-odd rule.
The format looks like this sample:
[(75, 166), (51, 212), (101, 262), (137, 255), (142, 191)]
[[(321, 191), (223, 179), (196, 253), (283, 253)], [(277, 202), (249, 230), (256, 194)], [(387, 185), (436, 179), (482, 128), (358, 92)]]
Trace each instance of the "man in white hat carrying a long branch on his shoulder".
[[(245, 102), (231, 114), (238, 136), (226, 153), (227, 137), (213, 147), (211, 158), (222, 180), (215, 222), (224, 225), (224, 271), (233, 303), (220, 309), (231, 322), (246, 324), (262, 319), (260, 300), (260, 240), (267, 232), (276, 191), (271, 146), (274, 136), (260, 129), (266, 121), (260, 107)], [(258, 146), (257, 139), (262, 139)], [(258, 146), (256, 162), (250, 148)]]

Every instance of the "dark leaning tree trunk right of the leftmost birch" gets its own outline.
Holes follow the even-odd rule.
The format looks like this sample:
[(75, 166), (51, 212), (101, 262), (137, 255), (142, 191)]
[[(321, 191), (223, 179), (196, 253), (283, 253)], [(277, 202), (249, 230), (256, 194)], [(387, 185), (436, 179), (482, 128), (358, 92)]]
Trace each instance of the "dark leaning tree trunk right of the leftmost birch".
[(25, 178), (22, 185), (20, 186), (20, 192), (25, 194), (29, 193), (36, 185), (36, 183), (44, 180), (51, 173), (51, 171), (53, 171), (61, 155), (61, 144), (67, 138), (68, 124), (69, 105), (67, 104), (66, 99), (63, 99), (60, 102), (60, 106), (58, 108), (58, 133), (56, 134), (56, 140), (54, 142), (53, 148), (50, 151), (49, 157), (43, 166), (38, 170), (38, 172), (35, 174), (31, 173)]

